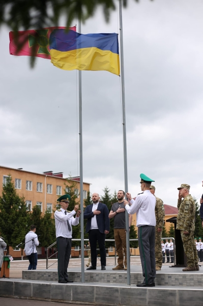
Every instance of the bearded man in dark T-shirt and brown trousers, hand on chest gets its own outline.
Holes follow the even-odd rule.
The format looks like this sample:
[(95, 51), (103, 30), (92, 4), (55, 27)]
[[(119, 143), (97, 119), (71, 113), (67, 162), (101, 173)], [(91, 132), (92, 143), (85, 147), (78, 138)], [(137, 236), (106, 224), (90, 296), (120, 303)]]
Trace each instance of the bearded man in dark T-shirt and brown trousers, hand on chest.
[[(125, 192), (119, 190), (117, 193), (118, 202), (113, 203), (111, 211), (108, 215), (109, 219), (114, 218), (114, 239), (117, 246), (118, 266), (112, 270), (127, 270), (127, 251), (126, 251), (126, 216), (124, 205)], [(132, 222), (132, 215), (129, 215), (129, 230)], [(125, 260), (123, 256), (125, 253)], [(125, 268), (124, 268), (125, 265)]]

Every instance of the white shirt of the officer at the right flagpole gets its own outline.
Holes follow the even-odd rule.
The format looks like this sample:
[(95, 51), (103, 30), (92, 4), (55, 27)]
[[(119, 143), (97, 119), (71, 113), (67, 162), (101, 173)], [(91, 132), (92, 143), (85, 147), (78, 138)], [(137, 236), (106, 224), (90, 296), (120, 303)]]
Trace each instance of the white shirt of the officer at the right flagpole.
[(129, 214), (137, 212), (137, 227), (143, 225), (156, 225), (156, 197), (150, 190), (145, 190), (143, 193), (139, 194), (135, 200), (130, 200), (130, 203), (131, 206), (128, 204), (126, 205), (126, 210)]

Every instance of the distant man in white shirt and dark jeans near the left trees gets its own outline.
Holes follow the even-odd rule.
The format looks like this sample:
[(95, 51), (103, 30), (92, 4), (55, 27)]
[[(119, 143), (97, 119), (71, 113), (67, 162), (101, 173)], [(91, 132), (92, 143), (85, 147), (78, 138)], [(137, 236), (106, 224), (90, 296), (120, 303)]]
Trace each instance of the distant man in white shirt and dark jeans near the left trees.
[(25, 236), (25, 247), (24, 252), (30, 265), (28, 266), (28, 270), (36, 270), (37, 268), (37, 248), (39, 245), (39, 241), (37, 239), (36, 226), (31, 225), (30, 232)]

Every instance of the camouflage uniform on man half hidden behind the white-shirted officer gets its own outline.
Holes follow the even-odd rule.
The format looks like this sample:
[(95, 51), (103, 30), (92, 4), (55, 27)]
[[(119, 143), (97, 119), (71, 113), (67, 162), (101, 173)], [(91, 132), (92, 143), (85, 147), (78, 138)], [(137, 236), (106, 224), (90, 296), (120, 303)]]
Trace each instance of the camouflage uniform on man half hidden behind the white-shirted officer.
[(156, 267), (162, 267), (162, 247), (161, 247), (161, 232), (159, 233), (158, 228), (162, 229), (165, 210), (163, 206), (163, 201), (156, 197), (156, 206), (155, 206), (155, 216), (156, 216), (156, 226), (155, 226), (155, 258), (156, 258)]

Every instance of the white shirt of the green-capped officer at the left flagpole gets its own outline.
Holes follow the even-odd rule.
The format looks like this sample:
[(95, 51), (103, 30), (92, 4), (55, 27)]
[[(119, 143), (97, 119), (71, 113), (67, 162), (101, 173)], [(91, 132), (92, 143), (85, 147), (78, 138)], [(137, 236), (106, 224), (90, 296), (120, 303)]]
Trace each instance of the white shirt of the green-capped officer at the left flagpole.
[[(72, 225), (77, 225), (79, 223), (79, 217), (73, 218), (76, 212), (73, 210), (71, 213), (65, 215), (65, 210), (63, 208), (61, 211), (55, 211), (55, 235), (57, 237), (72, 238)], [(73, 218), (73, 219), (72, 219)], [(68, 230), (67, 220), (69, 221), (71, 232)]]

